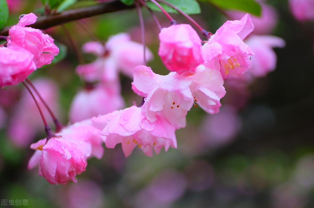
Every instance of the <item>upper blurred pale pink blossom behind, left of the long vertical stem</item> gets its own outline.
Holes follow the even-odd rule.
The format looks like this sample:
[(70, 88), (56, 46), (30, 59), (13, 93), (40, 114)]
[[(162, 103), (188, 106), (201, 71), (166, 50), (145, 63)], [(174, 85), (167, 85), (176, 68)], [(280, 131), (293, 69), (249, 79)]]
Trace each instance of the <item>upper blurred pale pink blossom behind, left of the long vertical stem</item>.
[[(143, 45), (131, 41), (127, 33), (111, 36), (105, 45), (96, 41), (85, 43), (82, 49), (97, 56), (94, 62), (76, 68), (78, 75), (88, 82), (117, 81), (119, 70), (132, 78), (134, 68), (143, 64)], [(146, 48), (146, 59), (152, 58), (152, 52)]]

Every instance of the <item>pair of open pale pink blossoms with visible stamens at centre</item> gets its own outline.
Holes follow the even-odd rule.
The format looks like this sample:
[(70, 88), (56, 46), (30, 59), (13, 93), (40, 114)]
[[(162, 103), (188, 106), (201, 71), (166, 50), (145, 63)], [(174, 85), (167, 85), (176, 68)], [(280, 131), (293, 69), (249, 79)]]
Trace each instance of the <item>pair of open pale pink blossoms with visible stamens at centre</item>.
[(219, 71), (203, 65), (190, 76), (180, 76), (176, 72), (162, 76), (154, 74), (147, 66), (138, 66), (134, 69), (133, 89), (137, 94), (138, 91), (147, 94), (142, 111), (150, 122), (154, 122), (160, 112), (178, 129), (185, 127), (185, 116), (194, 102), (207, 113), (219, 111), (220, 99), (226, 93), (223, 83)]

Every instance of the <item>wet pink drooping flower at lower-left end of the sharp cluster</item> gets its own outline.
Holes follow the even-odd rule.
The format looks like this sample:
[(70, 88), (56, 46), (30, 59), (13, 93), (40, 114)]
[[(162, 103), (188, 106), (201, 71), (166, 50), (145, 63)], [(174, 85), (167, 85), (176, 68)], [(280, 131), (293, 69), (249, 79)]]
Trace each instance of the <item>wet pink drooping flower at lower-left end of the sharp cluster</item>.
[(67, 184), (69, 180), (77, 182), (76, 174), (85, 171), (87, 161), (75, 144), (62, 136), (39, 140), (30, 146), (36, 150), (30, 158), (28, 168), (40, 164), (40, 175), (51, 184)]

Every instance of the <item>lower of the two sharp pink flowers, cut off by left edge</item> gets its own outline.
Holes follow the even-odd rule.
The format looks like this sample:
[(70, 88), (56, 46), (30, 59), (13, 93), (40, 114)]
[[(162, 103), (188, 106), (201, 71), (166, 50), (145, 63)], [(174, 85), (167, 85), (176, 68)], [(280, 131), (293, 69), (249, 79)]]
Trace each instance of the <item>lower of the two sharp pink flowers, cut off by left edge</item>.
[(17, 46), (0, 47), (0, 87), (23, 82), (36, 70), (34, 55)]

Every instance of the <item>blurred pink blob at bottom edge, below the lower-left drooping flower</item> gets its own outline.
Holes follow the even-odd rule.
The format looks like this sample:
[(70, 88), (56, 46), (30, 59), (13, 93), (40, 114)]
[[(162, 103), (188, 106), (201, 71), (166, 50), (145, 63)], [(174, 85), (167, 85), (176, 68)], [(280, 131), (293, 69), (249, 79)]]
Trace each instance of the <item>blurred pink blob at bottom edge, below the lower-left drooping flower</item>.
[(69, 184), (58, 197), (61, 199), (60, 207), (64, 208), (104, 207), (101, 187), (91, 180)]

